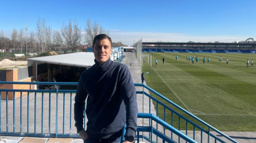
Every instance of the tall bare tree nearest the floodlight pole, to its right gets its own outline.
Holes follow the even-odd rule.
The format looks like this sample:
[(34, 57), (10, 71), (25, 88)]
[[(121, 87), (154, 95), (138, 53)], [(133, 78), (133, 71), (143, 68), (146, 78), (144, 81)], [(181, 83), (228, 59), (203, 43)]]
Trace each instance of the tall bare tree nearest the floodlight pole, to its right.
[(36, 22), (36, 40), (40, 44), (40, 50), (42, 52), (45, 52), (47, 50), (47, 44), (50, 45), (51, 42), (51, 33), (52, 29), (49, 27), (46, 27), (45, 20), (38, 18), (38, 21)]

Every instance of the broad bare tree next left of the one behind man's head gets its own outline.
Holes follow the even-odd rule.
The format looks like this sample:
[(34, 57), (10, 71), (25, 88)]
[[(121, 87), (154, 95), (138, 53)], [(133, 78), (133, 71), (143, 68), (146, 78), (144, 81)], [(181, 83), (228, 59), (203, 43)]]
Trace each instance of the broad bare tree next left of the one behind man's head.
[(63, 36), (67, 50), (72, 50), (74, 52), (74, 50), (80, 47), (82, 33), (81, 29), (76, 23), (76, 20), (74, 20), (74, 25), (72, 25), (71, 20), (69, 20), (68, 25), (63, 25), (61, 29), (61, 34)]

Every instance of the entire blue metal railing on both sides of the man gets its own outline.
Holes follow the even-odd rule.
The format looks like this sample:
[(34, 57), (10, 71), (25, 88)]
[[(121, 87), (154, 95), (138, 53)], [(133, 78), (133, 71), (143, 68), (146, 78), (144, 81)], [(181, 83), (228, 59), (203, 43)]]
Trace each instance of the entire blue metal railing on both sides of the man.
[[(77, 82), (0, 82), (0, 84), (40, 84), (40, 85), (77, 85)], [(180, 142), (180, 140), (188, 142), (225, 142), (211, 133), (215, 131), (219, 135), (226, 138), (228, 141), (236, 143), (235, 140), (229, 136), (221, 133), (211, 125), (205, 123), (201, 119), (197, 118), (193, 114), (189, 113), (185, 109), (181, 108), (177, 104), (173, 103), (163, 95), (157, 93), (145, 84), (137, 84), (135, 86), (141, 86), (142, 91), (137, 91), (137, 98), (142, 94), (143, 104), (142, 113), (138, 114), (138, 118), (142, 118), (142, 126), (138, 126), (136, 138), (142, 138), (149, 142)], [(151, 94), (145, 92), (148, 89)], [(32, 137), (59, 137), (59, 138), (80, 138), (76, 133), (74, 127), (74, 118), (72, 110), (74, 94), (76, 90), (35, 90), (35, 89), (0, 89), (0, 99), (3, 94), (6, 100), (0, 102), (0, 135), (7, 136), (32, 136)], [(16, 94), (23, 95), (16, 99)], [(8, 99), (8, 95), (13, 94), (13, 99)], [(144, 105), (146, 98), (149, 100), (149, 111), (146, 113)], [(158, 98), (158, 99), (157, 99)], [(159, 100), (161, 98), (161, 100)], [(156, 113), (151, 111), (151, 100), (154, 101), (156, 107)], [(167, 104), (164, 104), (166, 102)], [(159, 109), (162, 106), (163, 114), (160, 115)], [(180, 111), (174, 110), (171, 106)], [(62, 110), (59, 110), (59, 109)], [(4, 110), (6, 109), (6, 110)], [(47, 112), (48, 110), (48, 112)], [(170, 112), (167, 113), (166, 112)], [(9, 112), (12, 112), (10, 114)], [(20, 112), (20, 114), (18, 114)], [(40, 113), (40, 114), (39, 114)], [(155, 114), (155, 115), (154, 115)], [(34, 116), (33, 116), (34, 115)], [(159, 117), (162, 116), (162, 117)], [(38, 118), (38, 116), (40, 118)], [(84, 113), (85, 116), (85, 113)], [(175, 120), (175, 116), (178, 119)], [(6, 117), (6, 119), (2, 119)], [(48, 118), (48, 120), (47, 120)], [(162, 118), (162, 119), (161, 119)], [(171, 123), (167, 123), (168, 119), (171, 119)], [(178, 126), (175, 126), (175, 122)], [(86, 128), (86, 116), (84, 118), (84, 128)], [(154, 124), (153, 124), (154, 123)], [(185, 123), (185, 129), (182, 133), (182, 123)], [(189, 138), (189, 124), (193, 126), (192, 139)], [(34, 126), (33, 126), (34, 125)], [(40, 126), (41, 125), (41, 126)], [(12, 130), (9, 130), (10, 127)], [(33, 132), (32, 132), (33, 131)], [(201, 132), (200, 139), (195, 139), (195, 132)], [(148, 132), (148, 134), (146, 133)], [(204, 139), (203, 133), (206, 134), (207, 140)], [(191, 136), (191, 135), (190, 135)]]

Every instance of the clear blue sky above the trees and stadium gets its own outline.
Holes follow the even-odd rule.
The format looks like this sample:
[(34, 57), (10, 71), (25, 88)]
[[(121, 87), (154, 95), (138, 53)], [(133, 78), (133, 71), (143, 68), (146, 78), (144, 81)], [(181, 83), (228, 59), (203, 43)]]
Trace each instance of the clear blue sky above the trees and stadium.
[(256, 0), (1, 0), (0, 30), (27, 25), (35, 31), (38, 17), (58, 30), (76, 19), (109, 30), (113, 41), (233, 42), (256, 39)]

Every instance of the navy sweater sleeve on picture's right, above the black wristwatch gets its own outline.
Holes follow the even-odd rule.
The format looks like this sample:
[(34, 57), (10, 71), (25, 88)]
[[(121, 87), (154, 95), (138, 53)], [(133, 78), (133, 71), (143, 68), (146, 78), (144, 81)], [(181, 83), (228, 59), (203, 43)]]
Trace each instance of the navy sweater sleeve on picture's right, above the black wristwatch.
[(138, 106), (136, 101), (136, 89), (128, 67), (121, 75), (121, 95), (126, 106), (126, 133), (125, 136), (134, 136), (137, 130)]

